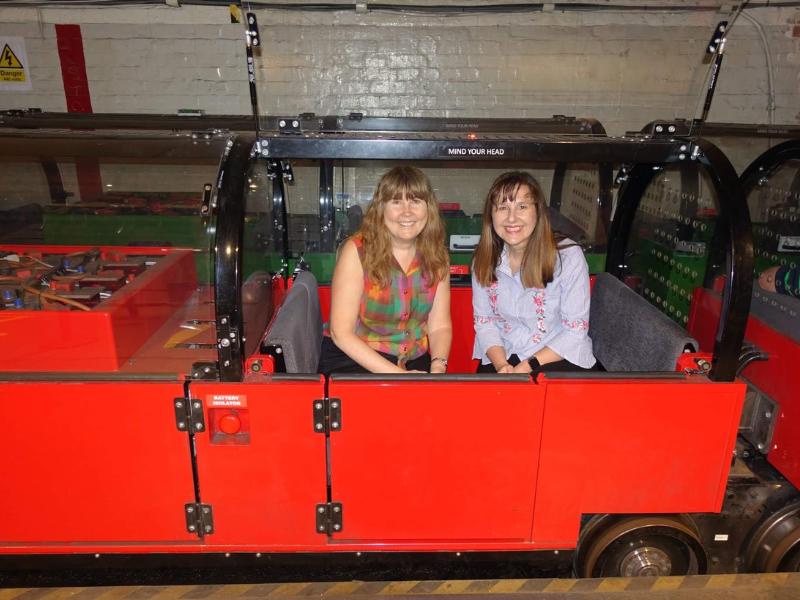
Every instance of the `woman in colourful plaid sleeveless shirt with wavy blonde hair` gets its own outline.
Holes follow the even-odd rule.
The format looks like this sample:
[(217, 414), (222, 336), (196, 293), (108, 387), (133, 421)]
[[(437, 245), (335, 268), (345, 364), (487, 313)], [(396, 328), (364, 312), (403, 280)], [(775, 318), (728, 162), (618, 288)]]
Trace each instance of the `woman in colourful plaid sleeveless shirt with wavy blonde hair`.
[(451, 340), (439, 205), (422, 171), (395, 167), (340, 249), (319, 371), (444, 373)]

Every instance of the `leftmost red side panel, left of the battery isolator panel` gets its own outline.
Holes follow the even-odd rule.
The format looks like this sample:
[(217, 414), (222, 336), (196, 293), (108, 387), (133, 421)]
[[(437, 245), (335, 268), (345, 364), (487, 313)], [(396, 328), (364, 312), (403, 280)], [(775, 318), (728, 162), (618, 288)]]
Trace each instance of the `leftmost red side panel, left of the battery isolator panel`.
[(198, 541), (182, 395), (178, 383), (0, 383), (0, 552)]

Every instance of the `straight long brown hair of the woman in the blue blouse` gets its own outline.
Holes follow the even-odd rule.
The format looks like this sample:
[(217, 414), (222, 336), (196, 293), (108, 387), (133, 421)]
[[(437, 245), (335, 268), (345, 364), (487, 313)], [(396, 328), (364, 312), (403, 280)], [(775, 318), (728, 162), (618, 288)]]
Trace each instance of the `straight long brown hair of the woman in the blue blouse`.
[(475, 249), (472, 268), (478, 283), (484, 287), (497, 281), (495, 269), (500, 264), (504, 244), (492, 226), (492, 211), (502, 202), (513, 202), (517, 191), (523, 185), (528, 187), (533, 196), (536, 225), (525, 246), (525, 254), (520, 265), (522, 285), (526, 288), (543, 288), (553, 281), (553, 272), (558, 259), (558, 241), (561, 236), (557, 240), (553, 235), (544, 192), (532, 175), (524, 171), (510, 171), (494, 180), (483, 205), (481, 239)]

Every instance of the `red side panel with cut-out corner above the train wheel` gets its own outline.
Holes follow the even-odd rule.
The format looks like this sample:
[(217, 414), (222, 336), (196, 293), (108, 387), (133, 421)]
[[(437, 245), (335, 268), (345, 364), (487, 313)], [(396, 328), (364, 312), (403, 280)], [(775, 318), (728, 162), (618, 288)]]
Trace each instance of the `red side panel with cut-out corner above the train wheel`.
[(533, 540), (574, 544), (582, 513), (716, 512), (745, 385), (547, 384)]

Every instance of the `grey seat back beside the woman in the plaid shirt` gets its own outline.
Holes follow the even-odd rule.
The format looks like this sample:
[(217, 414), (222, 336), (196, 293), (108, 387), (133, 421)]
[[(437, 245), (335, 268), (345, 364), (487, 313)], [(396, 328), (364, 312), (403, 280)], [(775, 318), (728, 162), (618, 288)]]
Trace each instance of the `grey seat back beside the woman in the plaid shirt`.
[(281, 349), (287, 373), (316, 373), (322, 345), (317, 280), (300, 271), (264, 338)]

